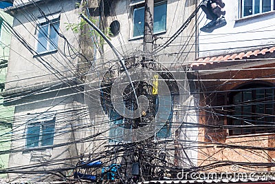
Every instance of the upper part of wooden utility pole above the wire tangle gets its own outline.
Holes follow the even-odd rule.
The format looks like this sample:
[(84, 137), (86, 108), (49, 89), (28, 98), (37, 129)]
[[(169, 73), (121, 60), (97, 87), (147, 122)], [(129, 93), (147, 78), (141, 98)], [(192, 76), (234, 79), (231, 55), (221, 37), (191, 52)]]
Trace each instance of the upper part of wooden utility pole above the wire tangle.
[(145, 0), (143, 52), (153, 51), (154, 0)]

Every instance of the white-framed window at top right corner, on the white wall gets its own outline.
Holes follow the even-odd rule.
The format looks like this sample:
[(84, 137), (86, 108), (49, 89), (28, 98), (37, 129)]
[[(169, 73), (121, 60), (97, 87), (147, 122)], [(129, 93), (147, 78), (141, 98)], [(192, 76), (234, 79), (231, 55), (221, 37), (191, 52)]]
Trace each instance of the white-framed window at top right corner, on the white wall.
[(242, 0), (241, 17), (274, 10), (274, 0)]

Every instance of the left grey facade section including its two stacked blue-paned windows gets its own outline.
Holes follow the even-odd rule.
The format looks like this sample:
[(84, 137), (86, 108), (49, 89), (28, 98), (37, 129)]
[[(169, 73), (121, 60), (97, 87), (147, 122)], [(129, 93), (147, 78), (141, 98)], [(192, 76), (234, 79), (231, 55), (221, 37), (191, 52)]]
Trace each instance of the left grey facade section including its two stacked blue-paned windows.
[(63, 180), (71, 172), (64, 168), (89, 150), (91, 127), (80, 85), (89, 60), (82, 57), (80, 32), (67, 29), (80, 22), (79, 3), (14, 1), (5, 9), (14, 17), (3, 93), (5, 105), (15, 106), (11, 182)]

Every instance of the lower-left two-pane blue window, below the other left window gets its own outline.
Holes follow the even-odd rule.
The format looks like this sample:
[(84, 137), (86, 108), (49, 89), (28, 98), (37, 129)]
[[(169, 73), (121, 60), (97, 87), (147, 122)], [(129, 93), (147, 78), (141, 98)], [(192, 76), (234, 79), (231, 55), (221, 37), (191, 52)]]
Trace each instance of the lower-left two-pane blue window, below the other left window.
[(41, 119), (40, 121), (28, 123), (26, 134), (26, 147), (41, 147), (53, 145), (55, 117)]

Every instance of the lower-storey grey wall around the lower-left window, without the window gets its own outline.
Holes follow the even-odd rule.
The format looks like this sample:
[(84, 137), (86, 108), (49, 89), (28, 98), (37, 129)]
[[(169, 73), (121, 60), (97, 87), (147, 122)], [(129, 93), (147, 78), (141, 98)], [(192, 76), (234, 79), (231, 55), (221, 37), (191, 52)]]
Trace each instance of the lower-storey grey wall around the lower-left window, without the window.
[[(10, 154), (9, 167), (19, 167), (19, 172), (28, 167), (34, 174), (9, 174), (11, 181), (54, 181), (60, 180), (52, 174), (47, 174), (47, 170), (67, 168), (76, 165), (80, 159), (80, 154), (89, 152), (89, 136), (91, 127), (89, 117), (83, 105), (83, 96), (63, 95), (72, 94), (72, 90), (61, 90), (47, 94), (34, 95), (26, 98), (21, 103), (28, 105), (17, 105), (14, 113), (14, 124), (12, 129), (13, 153)], [(59, 96), (60, 95), (60, 96)], [(51, 99), (54, 98), (54, 99)], [(83, 110), (84, 108), (84, 110)], [(40, 147), (39, 150), (28, 149), (26, 147), (27, 125), (30, 119), (36, 114), (55, 113), (55, 130), (53, 145)], [(39, 121), (38, 121), (39, 122)], [(80, 139), (86, 139), (77, 143)], [(38, 148), (38, 147), (34, 147)], [(44, 171), (46, 173), (37, 174)], [(36, 173), (36, 174), (35, 174)], [(63, 174), (69, 174), (63, 172)]]

